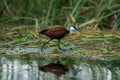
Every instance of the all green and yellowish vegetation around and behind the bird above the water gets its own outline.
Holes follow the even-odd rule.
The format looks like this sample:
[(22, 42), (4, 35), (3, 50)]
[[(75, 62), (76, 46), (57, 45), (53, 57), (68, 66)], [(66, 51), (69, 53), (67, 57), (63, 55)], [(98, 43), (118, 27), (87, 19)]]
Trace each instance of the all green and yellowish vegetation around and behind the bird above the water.
[[(48, 38), (38, 35), (37, 31), (42, 27), (54, 25), (67, 28), (76, 25), (83, 30), (83, 33), (62, 41), (61, 46), (64, 48), (80, 49), (75, 52), (75, 56), (96, 56), (101, 53), (115, 53), (120, 56), (119, 0), (0, 1), (0, 48), (40, 48)], [(56, 45), (53, 41), (46, 48)], [(52, 56), (64, 54), (56, 54), (59, 53), (56, 49), (51, 53)], [(71, 52), (65, 56), (73, 55)]]

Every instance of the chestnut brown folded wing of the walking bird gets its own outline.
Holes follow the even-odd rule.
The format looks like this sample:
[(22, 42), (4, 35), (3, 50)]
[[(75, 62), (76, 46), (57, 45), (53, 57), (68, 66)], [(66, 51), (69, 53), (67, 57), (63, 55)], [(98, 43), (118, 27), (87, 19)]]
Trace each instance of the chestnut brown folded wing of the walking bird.
[(55, 27), (45, 32), (52, 39), (61, 39), (68, 33), (65, 27)]

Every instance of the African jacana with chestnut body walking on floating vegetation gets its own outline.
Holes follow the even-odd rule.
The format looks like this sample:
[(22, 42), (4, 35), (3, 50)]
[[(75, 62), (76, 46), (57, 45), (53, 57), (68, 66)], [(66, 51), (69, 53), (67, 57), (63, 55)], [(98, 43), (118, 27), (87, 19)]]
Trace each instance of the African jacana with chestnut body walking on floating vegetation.
[(72, 32), (75, 30), (80, 32), (80, 30), (78, 28), (76, 28), (75, 26), (71, 26), (70, 30), (67, 30), (65, 27), (62, 27), (62, 26), (41, 30), (39, 32), (39, 34), (46, 35), (50, 38), (50, 40), (48, 40), (45, 44), (43, 44), (41, 51), (43, 50), (44, 46), (53, 39), (57, 39), (58, 40), (58, 48), (62, 51), (65, 51), (64, 49), (62, 49), (60, 47), (60, 39), (62, 39), (66, 34), (72, 34)]

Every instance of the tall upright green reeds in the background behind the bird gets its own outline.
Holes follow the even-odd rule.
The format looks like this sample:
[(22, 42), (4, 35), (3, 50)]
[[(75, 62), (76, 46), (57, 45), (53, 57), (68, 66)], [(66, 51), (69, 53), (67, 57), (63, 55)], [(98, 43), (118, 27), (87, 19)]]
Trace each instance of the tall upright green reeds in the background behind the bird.
[(1, 0), (0, 27), (78, 25), (92, 29), (120, 27), (119, 0)]

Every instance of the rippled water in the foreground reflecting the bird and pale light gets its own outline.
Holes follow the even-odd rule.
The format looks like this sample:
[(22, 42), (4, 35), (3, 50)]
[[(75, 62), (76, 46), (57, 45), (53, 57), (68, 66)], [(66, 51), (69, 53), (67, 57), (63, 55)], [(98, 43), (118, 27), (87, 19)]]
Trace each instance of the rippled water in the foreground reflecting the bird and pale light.
[(0, 80), (120, 80), (120, 59), (0, 56)]

